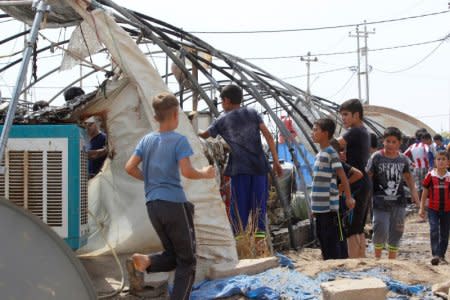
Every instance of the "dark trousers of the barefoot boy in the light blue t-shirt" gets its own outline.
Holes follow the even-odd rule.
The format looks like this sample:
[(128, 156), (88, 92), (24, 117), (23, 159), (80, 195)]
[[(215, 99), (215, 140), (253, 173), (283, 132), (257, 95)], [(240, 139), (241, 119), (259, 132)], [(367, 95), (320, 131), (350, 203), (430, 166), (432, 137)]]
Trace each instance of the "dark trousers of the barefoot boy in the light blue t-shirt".
[(151, 255), (147, 272), (168, 272), (175, 269), (170, 299), (189, 299), (195, 279), (194, 205), (163, 200), (147, 202), (147, 212), (164, 251)]

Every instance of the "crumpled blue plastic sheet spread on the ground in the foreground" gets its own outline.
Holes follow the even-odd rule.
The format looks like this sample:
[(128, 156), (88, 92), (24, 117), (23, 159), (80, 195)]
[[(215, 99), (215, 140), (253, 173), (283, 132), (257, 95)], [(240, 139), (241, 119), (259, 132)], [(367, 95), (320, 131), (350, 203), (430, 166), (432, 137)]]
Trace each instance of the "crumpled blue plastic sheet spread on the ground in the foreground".
[[(287, 260), (289, 259), (287, 258)], [(383, 268), (372, 268), (358, 272), (336, 269), (320, 273), (315, 278), (311, 278), (296, 270), (280, 267), (253, 276), (238, 275), (224, 279), (203, 281), (194, 287), (191, 299), (217, 299), (235, 295), (243, 295), (249, 299), (258, 300), (275, 300), (280, 298), (298, 300), (320, 299), (320, 284), (335, 280), (338, 277), (353, 279), (363, 277), (379, 278), (386, 283), (390, 291), (396, 293), (395, 296), (389, 298), (391, 300), (408, 299), (408, 296), (412, 295), (425, 298), (425, 296), (430, 294), (430, 290), (426, 286), (408, 285), (393, 280)]]

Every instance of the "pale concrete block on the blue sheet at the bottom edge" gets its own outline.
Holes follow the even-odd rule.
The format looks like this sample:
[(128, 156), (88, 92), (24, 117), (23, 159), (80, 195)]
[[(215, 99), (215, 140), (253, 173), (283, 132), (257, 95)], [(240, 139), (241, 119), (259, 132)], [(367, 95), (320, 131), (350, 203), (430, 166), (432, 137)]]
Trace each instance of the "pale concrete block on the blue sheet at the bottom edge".
[(378, 278), (341, 279), (320, 285), (323, 300), (384, 300), (386, 284)]

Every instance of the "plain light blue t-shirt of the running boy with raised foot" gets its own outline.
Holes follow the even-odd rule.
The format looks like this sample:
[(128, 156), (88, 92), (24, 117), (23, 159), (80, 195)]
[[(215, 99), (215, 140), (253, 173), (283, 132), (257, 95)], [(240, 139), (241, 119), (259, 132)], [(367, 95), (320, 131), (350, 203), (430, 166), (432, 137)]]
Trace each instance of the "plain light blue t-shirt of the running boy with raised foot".
[(134, 151), (142, 159), (147, 201), (186, 202), (178, 162), (193, 154), (187, 138), (174, 131), (144, 136)]

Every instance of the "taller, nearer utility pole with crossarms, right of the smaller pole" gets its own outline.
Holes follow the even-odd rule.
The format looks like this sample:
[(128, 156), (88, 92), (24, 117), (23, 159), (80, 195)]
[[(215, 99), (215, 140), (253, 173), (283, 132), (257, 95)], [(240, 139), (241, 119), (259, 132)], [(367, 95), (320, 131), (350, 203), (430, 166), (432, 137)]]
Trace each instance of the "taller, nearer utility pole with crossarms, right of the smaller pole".
[[(367, 31), (367, 25), (365, 24), (366, 20), (364, 20), (364, 30), (360, 31), (359, 30), (359, 25), (356, 26), (356, 32), (355, 34), (352, 34), (351, 32), (349, 32), (349, 36), (350, 37), (356, 37), (356, 54), (358, 57), (358, 98), (362, 101), (362, 96), (361, 96), (361, 76), (364, 75), (365, 76), (365, 80), (366, 80), (366, 99), (365, 102), (366, 104), (369, 104), (369, 72), (370, 72), (370, 66), (369, 66), (369, 58), (368, 58), (368, 54), (369, 54), (369, 49), (367, 47), (367, 38), (369, 37), (369, 34), (374, 34), (375, 33), (375, 29), (373, 29), (372, 31)], [(364, 47), (361, 48), (360, 46), (360, 41), (359, 38), (364, 38)], [(361, 56), (364, 56), (364, 71), (361, 71)]]

